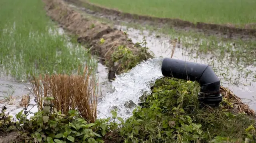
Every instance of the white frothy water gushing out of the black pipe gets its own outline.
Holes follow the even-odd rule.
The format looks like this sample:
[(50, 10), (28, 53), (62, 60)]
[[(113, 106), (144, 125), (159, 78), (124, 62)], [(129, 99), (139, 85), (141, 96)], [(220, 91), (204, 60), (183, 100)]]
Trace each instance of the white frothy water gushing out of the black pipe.
[(123, 119), (132, 116), (140, 102), (151, 94), (150, 87), (155, 81), (163, 77), (161, 72), (163, 58), (148, 59), (131, 69), (130, 72), (116, 75), (112, 82), (111, 93), (102, 97), (98, 104), (97, 118), (112, 117), (111, 110), (117, 109), (117, 114)]

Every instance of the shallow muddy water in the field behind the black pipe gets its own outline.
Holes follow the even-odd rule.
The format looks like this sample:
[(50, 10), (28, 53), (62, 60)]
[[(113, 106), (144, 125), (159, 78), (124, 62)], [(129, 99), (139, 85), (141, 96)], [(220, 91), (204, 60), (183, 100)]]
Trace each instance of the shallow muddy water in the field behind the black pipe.
[[(155, 57), (170, 57), (173, 49), (173, 44), (170, 36), (150, 33), (149, 31), (141, 31), (126, 26), (115, 25), (116, 28), (126, 31), (128, 37), (135, 42), (142, 42), (145, 36), (147, 47), (152, 51)], [(196, 48), (195, 48), (196, 50)], [(211, 55), (196, 55), (182, 47), (182, 43), (176, 43), (174, 55), (172, 58), (196, 63), (204, 63), (211, 65), (220, 78), (222, 86), (229, 88), (250, 105), (250, 108), (256, 110), (256, 82), (252, 81), (254, 77), (243, 77), (246, 71), (240, 71), (240, 68), (232, 67), (228, 60), (222, 61), (215, 59)], [(228, 70), (227, 70), (227, 67)], [(256, 71), (256, 67), (246, 67), (247, 70)], [(253, 75), (251, 75), (253, 76)]]

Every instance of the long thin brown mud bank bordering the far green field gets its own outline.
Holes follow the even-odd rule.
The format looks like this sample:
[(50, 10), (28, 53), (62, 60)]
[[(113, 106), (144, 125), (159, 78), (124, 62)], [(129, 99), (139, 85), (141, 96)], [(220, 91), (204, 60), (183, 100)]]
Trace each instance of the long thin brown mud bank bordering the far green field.
[(66, 2), (75, 4), (76, 6), (83, 7), (83, 10), (96, 17), (104, 17), (114, 21), (122, 21), (127, 23), (137, 23), (142, 25), (154, 25), (160, 28), (170, 27), (176, 30), (182, 31), (195, 31), (204, 33), (205, 35), (217, 35), (228, 39), (255, 39), (256, 29), (250, 29), (250, 25), (247, 24), (245, 28), (236, 28), (233, 25), (220, 25), (220, 24), (207, 24), (203, 22), (197, 22), (196, 24), (180, 19), (170, 18), (157, 18), (151, 16), (141, 16), (137, 14), (130, 14), (120, 12), (118, 10), (112, 10), (92, 4), (88, 1), (81, 0), (65, 0)]

